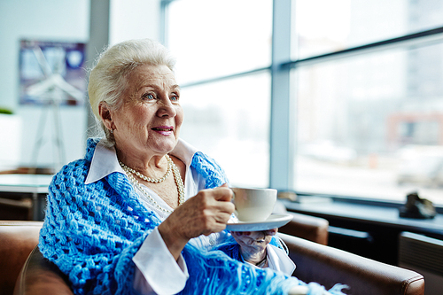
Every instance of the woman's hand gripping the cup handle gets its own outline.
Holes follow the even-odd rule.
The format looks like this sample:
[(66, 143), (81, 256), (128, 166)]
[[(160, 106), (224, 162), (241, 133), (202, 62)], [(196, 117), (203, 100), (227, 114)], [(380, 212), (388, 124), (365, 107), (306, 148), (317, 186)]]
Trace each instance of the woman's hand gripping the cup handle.
[(159, 233), (175, 260), (192, 237), (208, 236), (226, 228), (235, 209), (231, 198), (232, 190), (225, 186), (200, 190), (159, 225)]

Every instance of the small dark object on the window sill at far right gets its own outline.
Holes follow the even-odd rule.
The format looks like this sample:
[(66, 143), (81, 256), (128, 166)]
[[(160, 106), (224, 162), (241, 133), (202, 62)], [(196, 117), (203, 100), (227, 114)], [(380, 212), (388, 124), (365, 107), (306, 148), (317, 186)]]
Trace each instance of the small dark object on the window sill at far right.
[(420, 198), (418, 193), (411, 192), (407, 198), (407, 203), (399, 208), (400, 217), (431, 219), (437, 214), (432, 202), (425, 198)]

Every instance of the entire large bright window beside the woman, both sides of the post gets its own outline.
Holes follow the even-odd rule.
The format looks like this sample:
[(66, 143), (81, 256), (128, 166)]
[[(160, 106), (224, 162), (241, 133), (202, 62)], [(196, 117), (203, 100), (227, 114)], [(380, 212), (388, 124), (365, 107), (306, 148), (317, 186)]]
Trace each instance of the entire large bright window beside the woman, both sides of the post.
[[(274, 65), (271, 49), (287, 45), (273, 38), (272, 1), (167, 5), (183, 138), (233, 184), (272, 186), (269, 155), (290, 149), (287, 190), (401, 201), (416, 190), (443, 205), (443, 2), (281, 1), (291, 3), (291, 53)], [(275, 69), (291, 74), (279, 92), (290, 99), (271, 97), (285, 85)], [(281, 99), (296, 105), (289, 147), (269, 140)]]

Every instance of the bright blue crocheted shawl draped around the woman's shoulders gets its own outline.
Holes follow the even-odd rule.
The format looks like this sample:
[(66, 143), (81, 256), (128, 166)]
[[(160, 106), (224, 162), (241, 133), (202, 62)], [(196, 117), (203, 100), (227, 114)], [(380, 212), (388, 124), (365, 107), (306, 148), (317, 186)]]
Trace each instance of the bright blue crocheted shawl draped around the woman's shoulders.
[[(84, 184), (97, 142), (89, 139), (85, 158), (52, 179), (39, 248), (69, 277), (75, 294), (136, 294), (132, 258), (160, 221), (140, 202), (126, 175), (113, 173)], [(221, 168), (201, 152), (191, 166), (205, 176), (207, 188), (226, 182)], [(203, 252), (188, 244), (182, 253), (190, 273), (182, 294), (286, 294), (291, 286), (305, 284), (221, 251)], [(318, 287), (313, 285), (311, 293)]]

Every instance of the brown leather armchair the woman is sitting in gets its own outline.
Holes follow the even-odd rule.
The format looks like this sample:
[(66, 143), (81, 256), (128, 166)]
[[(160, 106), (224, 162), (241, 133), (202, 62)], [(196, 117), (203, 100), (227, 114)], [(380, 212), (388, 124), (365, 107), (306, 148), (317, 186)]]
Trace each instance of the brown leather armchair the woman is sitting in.
[[(15, 222), (19, 224), (12, 226)], [(12, 294), (16, 280), (14, 291), (16, 295), (73, 294), (66, 276), (61, 274), (49, 260), (44, 259), (35, 247), (36, 237), (42, 223), (27, 221), (31, 222), (27, 226), (26, 221), (15, 222), (8, 222), (9, 225), (0, 222), (0, 255), (2, 256), (0, 261), (4, 272), (4, 276), (0, 277), (2, 279), (0, 295)], [(7, 227), (9, 229), (4, 229)], [(300, 280), (321, 283), (327, 288), (335, 283), (345, 283), (350, 286), (350, 290), (346, 291), (347, 294), (424, 295), (424, 278), (414, 271), (365, 259), (303, 238), (283, 233), (279, 236), (288, 246), (290, 257), (297, 265), (293, 276), (297, 276)], [(27, 242), (20, 244), (12, 241), (13, 239), (27, 240)], [(9, 242), (4, 243), (4, 241)], [(12, 246), (7, 246), (8, 244)], [(23, 245), (25, 250), (19, 250), (20, 245)], [(32, 249), (29, 248), (30, 245), (34, 246), (35, 250), (26, 259), (27, 253)], [(10, 259), (10, 256), (15, 255), (14, 252), (17, 258)], [(17, 269), (22, 266), (17, 278)]]

